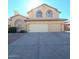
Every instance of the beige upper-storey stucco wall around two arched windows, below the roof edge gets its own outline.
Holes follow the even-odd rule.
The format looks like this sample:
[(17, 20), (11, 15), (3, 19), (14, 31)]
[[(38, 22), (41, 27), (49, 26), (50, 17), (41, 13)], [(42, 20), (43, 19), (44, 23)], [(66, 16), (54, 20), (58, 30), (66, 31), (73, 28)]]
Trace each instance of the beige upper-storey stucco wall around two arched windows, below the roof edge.
[(59, 12), (56, 11), (55, 9), (53, 8), (50, 8), (50, 7), (47, 7), (47, 6), (40, 6), (38, 8), (35, 8), (33, 10), (31, 10), (28, 15), (30, 18), (36, 18), (36, 11), (37, 10), (41, 10), (42, 11), (42, 14), (43, 14), (43, 18), (47, 18), (46, 17), (46, 12), (48, 10), (51, 10), (52, 11), (52, 14), (53, 14), (53, 17), (52, 18), (59, 18)]

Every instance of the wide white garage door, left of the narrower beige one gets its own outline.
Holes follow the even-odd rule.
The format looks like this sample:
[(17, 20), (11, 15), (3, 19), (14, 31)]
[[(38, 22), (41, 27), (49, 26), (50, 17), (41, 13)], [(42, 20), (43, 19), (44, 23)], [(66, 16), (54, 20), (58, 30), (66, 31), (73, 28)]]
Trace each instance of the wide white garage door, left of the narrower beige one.
[(31, 24), (29, 32), (48, 32), (48, 24)]

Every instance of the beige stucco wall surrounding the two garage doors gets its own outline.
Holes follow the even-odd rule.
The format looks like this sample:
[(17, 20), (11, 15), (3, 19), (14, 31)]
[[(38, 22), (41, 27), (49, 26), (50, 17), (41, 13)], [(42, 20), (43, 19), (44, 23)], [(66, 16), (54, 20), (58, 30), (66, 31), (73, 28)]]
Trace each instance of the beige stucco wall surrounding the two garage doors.
[(26, 24), (27, 24), (27, 31), (28, 32), (29, 32), (29, 27), (32, 24), (48, 24), (48, 32), (52, 32), (52, 30), (50, 29), (51, 25), (59, 24), (61, 27), (60, 31), (61, 32), (64, 31), (64, 22), (63, 21), (29, 21)]

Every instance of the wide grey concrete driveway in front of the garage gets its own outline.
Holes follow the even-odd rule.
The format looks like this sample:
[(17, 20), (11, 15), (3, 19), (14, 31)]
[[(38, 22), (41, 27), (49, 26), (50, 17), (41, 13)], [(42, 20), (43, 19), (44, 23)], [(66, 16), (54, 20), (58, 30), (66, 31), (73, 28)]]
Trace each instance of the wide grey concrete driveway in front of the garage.
[(9, 44), (9, 59), (70, 59), (70, 34), (26, 33)]

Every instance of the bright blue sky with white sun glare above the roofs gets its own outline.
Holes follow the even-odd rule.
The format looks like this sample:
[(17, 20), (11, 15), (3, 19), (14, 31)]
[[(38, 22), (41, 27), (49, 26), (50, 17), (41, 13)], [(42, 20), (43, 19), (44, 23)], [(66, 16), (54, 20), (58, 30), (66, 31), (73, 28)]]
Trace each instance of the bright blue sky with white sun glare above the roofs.
[(8, 16), (13, 16), (14, 11), (27, 16), (29, 10), (43, 3), (61, 11), (60, 18), (70, 18), (70, 0), (8, 0)]

